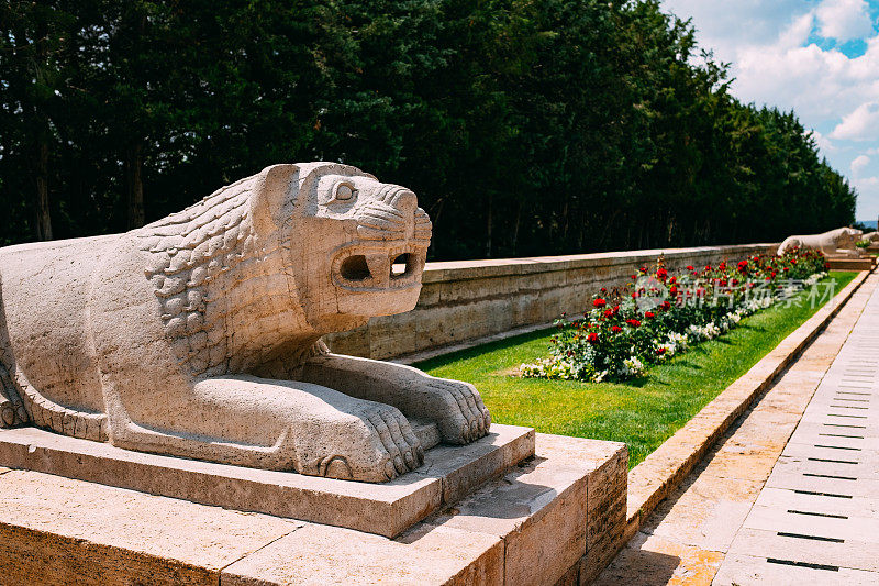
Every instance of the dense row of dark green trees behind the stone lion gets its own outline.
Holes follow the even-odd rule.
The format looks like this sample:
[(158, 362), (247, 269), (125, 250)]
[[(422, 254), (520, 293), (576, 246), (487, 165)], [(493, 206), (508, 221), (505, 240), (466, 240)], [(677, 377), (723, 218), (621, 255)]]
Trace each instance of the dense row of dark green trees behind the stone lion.
[(124, 231), (281, 162), (412, 188), (434, 259), (854, 220), (793, 112), (656, 0), (2, 0), (0, 244)]

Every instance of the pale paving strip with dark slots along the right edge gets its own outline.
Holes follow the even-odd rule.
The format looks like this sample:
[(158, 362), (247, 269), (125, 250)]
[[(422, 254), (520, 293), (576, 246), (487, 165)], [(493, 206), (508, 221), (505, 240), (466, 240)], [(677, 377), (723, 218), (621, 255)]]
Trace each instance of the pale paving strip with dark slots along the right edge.
[(879, 584), (877, 331), (874, 287), (714, 584)]

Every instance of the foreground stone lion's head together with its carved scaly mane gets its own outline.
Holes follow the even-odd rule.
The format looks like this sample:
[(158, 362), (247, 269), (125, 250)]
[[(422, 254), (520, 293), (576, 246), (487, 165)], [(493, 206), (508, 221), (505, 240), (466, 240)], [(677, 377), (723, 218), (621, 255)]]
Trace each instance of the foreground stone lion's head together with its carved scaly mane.
[(431, 221), (404, 187), (307, 163), (267, 167), (132, 235), (177, 357), (235, 372), (413, 309)]

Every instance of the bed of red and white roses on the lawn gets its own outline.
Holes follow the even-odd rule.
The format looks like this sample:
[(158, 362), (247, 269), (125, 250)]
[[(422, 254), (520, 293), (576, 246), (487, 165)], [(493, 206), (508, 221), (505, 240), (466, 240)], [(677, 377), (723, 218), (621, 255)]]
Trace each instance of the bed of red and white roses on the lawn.
[(621, 290), (602, 289), (582, 319), (556, 320), (550, 355), (522, 376), (601, 383), (641, 376), (650, 364), (717, 338), (746, 316), (826, 276), (824, 256), (793, 250), (671, 275), (660, 257)]

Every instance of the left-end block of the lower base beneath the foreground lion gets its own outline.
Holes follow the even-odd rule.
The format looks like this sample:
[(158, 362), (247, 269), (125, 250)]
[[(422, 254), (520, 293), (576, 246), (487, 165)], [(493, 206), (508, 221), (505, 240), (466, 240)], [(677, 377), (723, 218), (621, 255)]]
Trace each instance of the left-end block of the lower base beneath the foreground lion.
[(25, 471), (0, 495), (3, 584), (216, 584), (302, 526)]

